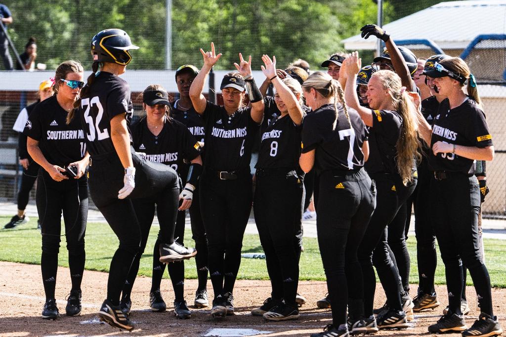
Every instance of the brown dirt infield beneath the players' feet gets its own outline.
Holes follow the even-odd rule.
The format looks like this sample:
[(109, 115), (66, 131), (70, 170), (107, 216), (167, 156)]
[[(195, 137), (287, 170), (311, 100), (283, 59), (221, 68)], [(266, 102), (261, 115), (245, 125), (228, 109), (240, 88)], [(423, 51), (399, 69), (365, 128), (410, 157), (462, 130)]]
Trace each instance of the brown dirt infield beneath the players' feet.
[[(324, 282), (303, 281), (299, 285), (299, 293), (307, 299), (307, 304), (301, 308), (301, 318), (289, 322), (267, 322), (262, 317), (255, 317), (249, 311), (269, 297), (270, 284), (268, 281), (239, 280), (235, 287), (235, 308), (237, 314), (224, 319), (213, 319), (209, 315), (209, 308), (193, 309), (189, 320), (179, 320), (172, 312), (173, 293), (169, 280), (162, 282), (162, 294), (167, 302), (167, 312), (153, 313), (149, 310), (150, 278), (139, 277), (135, 283), (133, 297), (132, 320), (136, 328), (132, 332), (119, 331), (106, 324), (100, 324), (96, 312), (105, 297), (107, 274), (95, 271), (85, 271), (82, 284), (82, 313), (78, 317), (62, 315), (56, 321), (40, 318), (44, 305), (44, 288), (40, 280), (40, 266), (25, 265), (11, 262), (0, 262), (0, 335), (2, 336), (92, 336), (92, 335), (153, 335), (153, 336), (204, 336), (204, 335), (250, 335), (245, 330), (258, 330), (263, 333), (258, 336), (308, 336), (312, 332), (320, 331), (331, 320), (328, 310), (316, 309), (316, 301), (326, 293)], [(69, 292), (70, 284), (68, 268), (58, 269), (56, 297), (60, 312), (65, 313), (65, 296)], [(196, 290), (196, 280), (186, 281), (186, 299), (193, 304), (193, 294)], [(210, 282), (209, 282), (210, 288)], [(416, 290), (413, 285), (412, 290)], [(435, 322), (446, 306), (445, 287), (437, 287), (441, 294), (441, 307), (435, 311), (415, 315), (411, 328), (404, 331), (381, 331), (377, 335), (417, 336), (428, 335), (427, 326)], [(467, 316), (467, 323), (472, 324), (476, 319), (476, 295), (472, 287), (468, 287), (468, 299), (472, 308)], [(503, 326), (506, 323), (506, 290), (494, 289), (494, 310), (499, 315)], [(381, 285), (376, 292), (376, 306), (385, 301)], [(215, 329), (213, 331), (213, 329)], [(226, 330), (235, 334), (225, 334)], [(209, 334), (210, 333), (210, 334)], [(216, 334), (213, 334), (216, 333)]]

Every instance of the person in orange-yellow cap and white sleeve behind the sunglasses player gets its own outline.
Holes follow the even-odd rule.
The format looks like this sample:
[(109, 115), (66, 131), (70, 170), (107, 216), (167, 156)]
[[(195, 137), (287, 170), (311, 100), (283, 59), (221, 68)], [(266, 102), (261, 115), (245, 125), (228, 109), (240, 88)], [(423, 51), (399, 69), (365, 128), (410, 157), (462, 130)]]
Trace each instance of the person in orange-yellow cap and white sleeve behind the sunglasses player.
[[(21, 176), (21, 188), (18, 192), (18, 214), (11, 218), (4, 228), (14, 228), (18, 225), (27, 223), (30, 219), (25, 215), (26, 205), (30, 197), (30, 190), (37, 179), (38, 169), (40, 166), (33, 161), (26, 150), (26, 132), (25, 129), (26, 121), (30, 116), (33, 108), (45, 99), (50, 98), (53, 95), (53, 84), (55, 83), (54, 78), (47, 79), (40, 83), (38, 86), (38, 97), (37, 102), (30, 104), (26, 108), (23, 108), (18, 115), (18, 119), (12, 127), (14, 131), (19, 133), (19, 165), (23, 166), (23, 175)], [(37, 220), (37, 228), (40, 228), (40, 222)]]

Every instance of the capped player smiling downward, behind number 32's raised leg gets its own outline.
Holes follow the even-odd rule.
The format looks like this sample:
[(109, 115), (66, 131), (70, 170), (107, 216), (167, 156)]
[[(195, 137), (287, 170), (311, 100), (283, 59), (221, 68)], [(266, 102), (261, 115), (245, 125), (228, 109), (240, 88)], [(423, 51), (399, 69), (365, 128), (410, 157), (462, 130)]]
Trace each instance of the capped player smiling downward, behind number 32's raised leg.
[[(185, 210), (191, 205), (193, 192), (199, 172), (202, 171), (202, 161), (200, 159), (200, 146), (195, 137), (182, 123), (172, 119), (168, 115), (168, 94), (165, 89), (158, 84), (149, 85), (143, 92), (143, 108), (146, 111), (146, 117), (132, 126), (132, 138), (134, 149), (137, 153), (143, 153), (146, 159), (156, 163), (162, 163), (172, 167), (178, 173), (183, 167), (183, 159), (191, 162), (191, 174), (185, 191), (180, 198), (182, 205), (180, 212), (184, 214)], [(183, 170), (188, 171), (188, 170)], [(185, 179), (186, 180), (186, 179)], [(134, 210), (141, 226), (141, 246), (132, 266), (129, 276), (123, 286), (121, 294), (121, 307), (123, 311), (130, 312), (132, 301), (131, 293), (134, 286), (137, 272), (139, 271), (139, 262), (146, 248), (149, 229), (153, 222), (155, 206), (158, 204), (157, 198), (146, 198), (133, 200)], [(163, 221), (163, 219), (160, 219)], [(183, 245), (184, 239), (184, 218), (183, 221), (176, 223), (174, 236), (176, 241)], [(159, 235), (160, 236), (160, 235)], [(149, 294), (149, 303), (153, 311), (165, 311), (166, 305), (160, 294), (160, 283), (165, 270), (165, 265), (160, 262), (159, 247), (160, 239), (156, 240), (153, 250), (153, 277), (151, 291)], [(188, 310), (184, 300), (184, 263), (183, 261), (174, 262), (168, 265), (168, 272), (171, 275), (171, 281), (174, 288), (175, 301), (174, 313), (178, 318), (190, 318), (191, 312)]]

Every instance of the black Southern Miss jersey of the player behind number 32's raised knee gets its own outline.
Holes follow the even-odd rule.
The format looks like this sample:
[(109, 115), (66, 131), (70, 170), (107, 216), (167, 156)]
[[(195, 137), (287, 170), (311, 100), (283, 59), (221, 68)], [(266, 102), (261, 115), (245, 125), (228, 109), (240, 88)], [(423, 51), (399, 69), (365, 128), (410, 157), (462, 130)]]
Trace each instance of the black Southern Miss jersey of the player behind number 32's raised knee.
[(191, 161), (200, 154), (200, 146), (191, 132), (170, 117), (158, 135), (148, 129), (146, 118), (141, 119), (132, 126), (132, 138), (136, 152), (145, 153), (149, 161), (170, 165), (179, 174), (183, 159)]

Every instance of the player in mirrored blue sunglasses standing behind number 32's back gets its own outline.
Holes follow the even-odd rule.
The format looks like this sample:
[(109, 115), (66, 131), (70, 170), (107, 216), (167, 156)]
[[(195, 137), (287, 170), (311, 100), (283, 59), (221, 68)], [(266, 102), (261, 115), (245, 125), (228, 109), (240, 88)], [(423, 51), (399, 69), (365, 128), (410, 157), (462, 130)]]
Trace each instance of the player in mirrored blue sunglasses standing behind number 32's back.
[(46, 293), (42, 317), (46, 319), (59, 316), (55, 286), (62, 213), (72, 281), (65, 313), (76, 316), (81, 312), (88, 217), (88, 184), (84, 174), (90, 156), (79, 121), (67, 125), (66, 118), (84, 84), (82, 71), (80, 63), (75, 61), (60, 64), (55, 75), (57, 94), (37, 104), (25, 126), (28, 154), (41, 167), (36, 202), (42, 234), (40, 268)]

